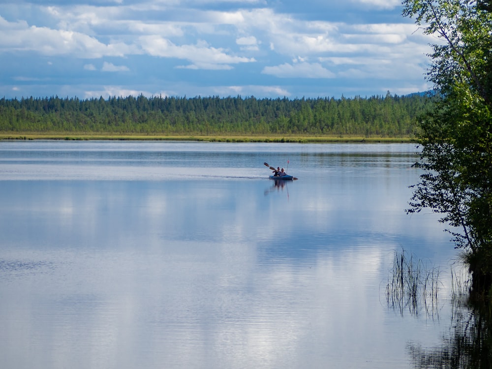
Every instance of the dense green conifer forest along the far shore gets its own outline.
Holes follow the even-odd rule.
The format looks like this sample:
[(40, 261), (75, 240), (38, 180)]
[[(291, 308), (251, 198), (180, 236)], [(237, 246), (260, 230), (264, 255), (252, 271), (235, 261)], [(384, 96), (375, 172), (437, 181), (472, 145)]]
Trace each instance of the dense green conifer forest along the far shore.
[(354, 98), (0, 99), (1, 133), (413, 137), (423, 94)]

